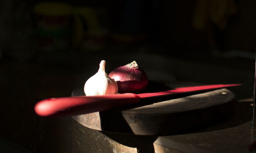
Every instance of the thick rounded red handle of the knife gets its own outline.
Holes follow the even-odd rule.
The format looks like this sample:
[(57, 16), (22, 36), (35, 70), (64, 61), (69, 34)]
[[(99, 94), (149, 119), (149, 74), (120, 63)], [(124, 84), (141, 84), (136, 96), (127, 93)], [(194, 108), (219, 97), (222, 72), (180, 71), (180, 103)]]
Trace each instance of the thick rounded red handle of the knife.
[(68, 116), (105, 111), (139, 101), (140, 97), (134, 93), (61, 97), (41, 100), (34, 109), (40, 116)]

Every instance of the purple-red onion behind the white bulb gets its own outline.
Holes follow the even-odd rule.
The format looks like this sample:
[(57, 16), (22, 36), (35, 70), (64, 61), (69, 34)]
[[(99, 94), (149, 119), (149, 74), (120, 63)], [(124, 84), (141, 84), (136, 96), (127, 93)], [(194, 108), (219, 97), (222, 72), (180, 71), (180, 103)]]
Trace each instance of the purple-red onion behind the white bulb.
[(136, 61), (114, 69), (109, 77), (117, 82), (119, 93), (142, 91), (148, 83), (146, 72), (139, 68)]

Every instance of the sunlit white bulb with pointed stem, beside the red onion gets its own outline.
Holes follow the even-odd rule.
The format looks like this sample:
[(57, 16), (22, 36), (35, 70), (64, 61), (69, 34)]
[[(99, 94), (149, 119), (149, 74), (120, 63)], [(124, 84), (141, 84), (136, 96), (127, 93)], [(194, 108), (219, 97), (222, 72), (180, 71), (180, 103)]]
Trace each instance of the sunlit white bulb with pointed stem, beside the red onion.
[(84, 84), (84, 93), (87, 96), (117, 93), (117, 82), (105, 73), (105, 64), (106, 62), (102, 60), (99, 64), (98, 72)]

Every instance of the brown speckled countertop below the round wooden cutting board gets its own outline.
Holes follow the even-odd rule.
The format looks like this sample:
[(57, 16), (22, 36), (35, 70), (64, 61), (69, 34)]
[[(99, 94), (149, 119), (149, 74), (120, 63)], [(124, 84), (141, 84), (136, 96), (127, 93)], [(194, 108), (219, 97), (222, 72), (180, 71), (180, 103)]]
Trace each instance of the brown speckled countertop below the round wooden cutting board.
[(97, 131), (71, 119), (72, 150), (134, 153), (248, 152), (249, 146), (256, 140), (256, 131), (250, 128), (250, 104), (251, 101), (234, 101), (234, 114), (231, 118), (203, 129), (165, 136)]

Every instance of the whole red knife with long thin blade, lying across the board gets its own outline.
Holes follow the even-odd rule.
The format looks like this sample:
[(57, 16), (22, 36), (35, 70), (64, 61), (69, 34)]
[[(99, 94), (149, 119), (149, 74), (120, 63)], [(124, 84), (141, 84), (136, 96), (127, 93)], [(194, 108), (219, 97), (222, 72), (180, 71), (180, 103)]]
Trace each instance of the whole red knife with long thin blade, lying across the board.
[(193, 87), (181, 87), (173, 90), (153, 92), (153, 93), (123, 93), (123, 94), (106, 94), (96, 96), (76, 96), (76, 97), (59, 97), (48, 98), (39, 101), (34, 110), (39, 116), (70, 116), (80, 115), (93, 112), (106, 111), (112, 108), (136, 104), (144, 98), (152, 98), (166, 95), (177, 95), (192, 93), (198, 91), (207, 91), (211, 89), (225, 88), (231, 86), (240, 86), (241, 84), (221, 84), (205, 85)]

